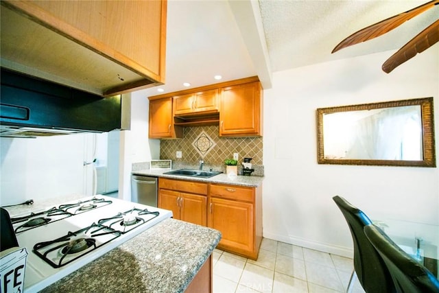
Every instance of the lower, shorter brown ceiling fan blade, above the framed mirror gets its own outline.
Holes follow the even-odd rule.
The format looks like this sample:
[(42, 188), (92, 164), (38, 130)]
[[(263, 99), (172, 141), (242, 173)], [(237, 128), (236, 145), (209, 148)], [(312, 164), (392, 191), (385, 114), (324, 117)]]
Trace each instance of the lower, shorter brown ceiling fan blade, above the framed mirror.
[(385, 73), (390, 73), (393, 69), (403, 64), (405, 61), (416, 56), (416, 54), (425, 51), (439, 41), (439, 20), (435, 21), (417, 36), (412, 38), (409, 43), (405, 44), (395, 54), (390, 56), (382, 66)]

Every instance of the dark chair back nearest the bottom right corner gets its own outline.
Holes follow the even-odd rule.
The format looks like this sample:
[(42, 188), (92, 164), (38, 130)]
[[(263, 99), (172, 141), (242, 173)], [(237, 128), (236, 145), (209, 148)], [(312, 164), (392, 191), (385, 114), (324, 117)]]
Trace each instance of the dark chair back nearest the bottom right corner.
[(397, 292), (439, 293), (439, 281), (425, 266), (404, 252), (379, 227), (364, 227), (370, 243), (378, 250), (389, 269)]

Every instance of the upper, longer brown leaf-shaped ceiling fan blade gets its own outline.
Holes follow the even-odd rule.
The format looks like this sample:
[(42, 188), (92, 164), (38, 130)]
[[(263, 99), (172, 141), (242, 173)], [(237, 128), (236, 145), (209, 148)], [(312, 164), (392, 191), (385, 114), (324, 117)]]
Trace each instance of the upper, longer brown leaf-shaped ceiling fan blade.
[(372, 38), (376, 38), (377, 36), (381, 36), (386, 32), (390, 32), (394, 28), (399, 27), (399, 25), (405, 23), (405, 21), (412, 19), (414, 16), (424, 12), (425, 10), (429, 10), (434, 5), (438, 5), (438, 4), (439, 4), (439, 0), (429, 1), (423, 5), (413, 8), (412, 10), (408, 10), (406, 12), (396, 14), (395, 16), (392, 16), (388, 19), (379, 21), (378, 23), (365, 27), (363, 30), (359, 30), (358, 32), (355, 32), (354, 34), (351, 34), (351, 36), (348, 36), (347, 38), (342, 40), (340, 44), (335, 46), (335, 48), (332, 50), (331, 53), (335, 53), (336, 51), (343, 49), (345, 47), (362, 43), (365, 42), (366, 40), (370, 40)]

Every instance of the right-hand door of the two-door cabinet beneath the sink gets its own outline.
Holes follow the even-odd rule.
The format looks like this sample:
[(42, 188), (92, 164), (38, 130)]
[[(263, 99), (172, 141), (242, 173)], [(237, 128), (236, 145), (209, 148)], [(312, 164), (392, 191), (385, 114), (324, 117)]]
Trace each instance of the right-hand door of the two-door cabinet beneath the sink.
[(207, 226), (207, 198), (195, 194), (180, 193), (180, 220), (201, 226)]

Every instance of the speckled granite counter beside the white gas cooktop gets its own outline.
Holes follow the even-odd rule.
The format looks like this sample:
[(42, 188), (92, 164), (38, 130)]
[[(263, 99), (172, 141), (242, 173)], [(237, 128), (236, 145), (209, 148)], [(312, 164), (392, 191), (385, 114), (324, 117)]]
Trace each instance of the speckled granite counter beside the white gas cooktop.
[(42, 292), (184, 292), (220, 239), (214, 229), (167, 219)]

